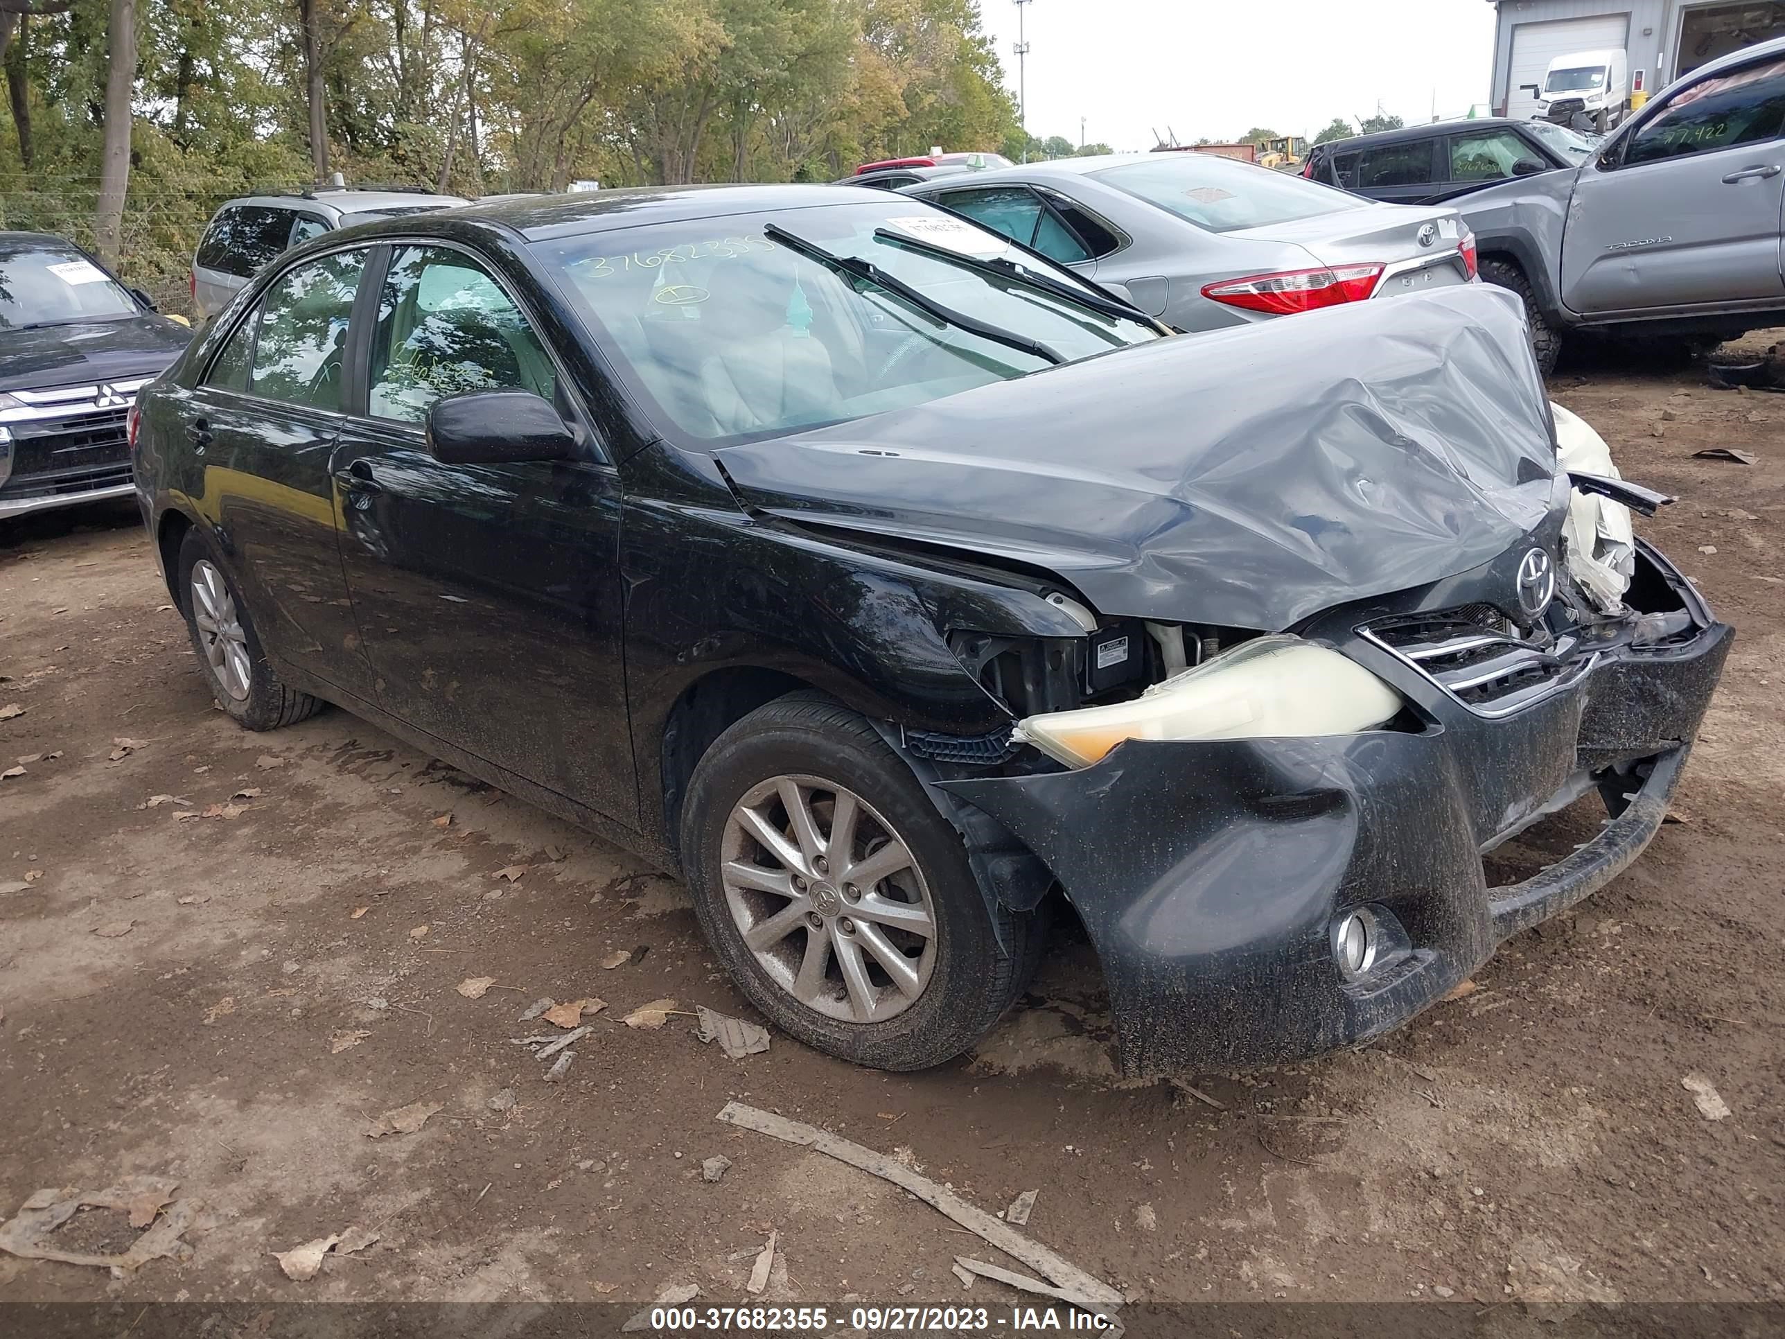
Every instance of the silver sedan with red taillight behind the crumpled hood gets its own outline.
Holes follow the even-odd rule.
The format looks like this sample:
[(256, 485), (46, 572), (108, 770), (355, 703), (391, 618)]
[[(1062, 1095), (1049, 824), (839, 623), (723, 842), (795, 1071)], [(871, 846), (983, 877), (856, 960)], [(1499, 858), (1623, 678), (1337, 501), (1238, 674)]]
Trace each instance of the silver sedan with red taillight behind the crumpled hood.
[(1387, 205), (1212, 154), (1055, 159), (905, 195), (1069, 264), (1180, 330), (1474, 280), (1455, 209)]

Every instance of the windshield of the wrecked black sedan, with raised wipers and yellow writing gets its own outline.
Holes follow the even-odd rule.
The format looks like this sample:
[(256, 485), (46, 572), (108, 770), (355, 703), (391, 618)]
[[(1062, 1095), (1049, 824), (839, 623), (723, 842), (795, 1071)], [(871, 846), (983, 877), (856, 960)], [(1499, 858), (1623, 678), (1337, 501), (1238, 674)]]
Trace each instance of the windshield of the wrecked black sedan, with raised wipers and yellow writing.
[[(775, 229), (789, 239), (771, 239)], [(657, 421), (702, 446), (905, 409), (1158, 337), (898, 237), (1007, 257), (1096, 300), (1069, 270), (900, 196), (589, 232), (536, 250), (571, 280)], [(801, 245), (864, 261), (923, 302), (839, 273)]]

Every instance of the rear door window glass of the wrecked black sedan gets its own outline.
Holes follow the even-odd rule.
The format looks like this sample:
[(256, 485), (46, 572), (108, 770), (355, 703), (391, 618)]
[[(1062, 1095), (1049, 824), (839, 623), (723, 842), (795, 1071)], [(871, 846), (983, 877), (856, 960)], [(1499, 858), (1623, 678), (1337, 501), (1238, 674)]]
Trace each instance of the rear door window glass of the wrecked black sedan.
[(366, 252), (337, 252), (273, 282), (261, 302), (252, 395), (311, 409), (343, 407), (346, 323), (364, 268)]

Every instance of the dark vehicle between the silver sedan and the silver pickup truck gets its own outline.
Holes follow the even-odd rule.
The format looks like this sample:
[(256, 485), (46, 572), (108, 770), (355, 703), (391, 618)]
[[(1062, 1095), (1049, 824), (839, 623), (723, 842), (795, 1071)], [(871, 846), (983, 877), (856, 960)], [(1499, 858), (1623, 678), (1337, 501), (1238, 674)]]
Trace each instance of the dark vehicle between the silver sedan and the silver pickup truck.
[(1578, 168), (1594, 143), (1562, 125), (1510, 116), (1433, 121), (1316, 145), (1301, 175), (1371, 200), (1424, 205), (1512, 177)]

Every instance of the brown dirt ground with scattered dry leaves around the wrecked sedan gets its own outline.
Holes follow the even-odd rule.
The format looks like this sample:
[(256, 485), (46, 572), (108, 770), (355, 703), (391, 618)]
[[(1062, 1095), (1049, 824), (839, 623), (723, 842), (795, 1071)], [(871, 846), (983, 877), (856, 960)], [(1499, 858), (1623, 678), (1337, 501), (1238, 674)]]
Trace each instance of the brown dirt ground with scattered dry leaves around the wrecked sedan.
[[(127, 1175), (202, 1203), (186, 1260), (112, 1282), (0, 1253), (0, 1300), (698, 1284), (723, 1305), (750, 1300), (771, 1230), (766, 1302), (1016, 1300), (950, 1273), (957, 1253), (1010, 1260), (721, 1125), (728, 1100), (909, 1150), (989, 1210), (1039, 1189), (1030, 1232), (1148, 1302), (1785, 1300), (1785, 396), (1610, 357), (1553, 391), (1626, 475), (1680, 495), (1640, 532), (1739, 628), (1680, 821), (1382, 1044), (1189, 1077), (1219, 1109), (1114, 1078), (1069, 932), (978, 1053), (932, 1073), (784, 1037), (728, 1060), (680, 1012), (625, 1027), (659, 998), (748, 1016), (677, 884), (341, 711), (237, 730), (134, 516), (0, 528), (0, 707), (23, 707), (0, 768), (41, 755), (0, 780), (0, 1218)], [(1758, 459), (1692, 459), (1705, 446)], [(1565, 812), (1514, 859), (1590, 828)], [(455, 989), (477, 977), (482, 998)], [(511, 1041), (552, 1030), (518, 1021), (537, 996), (607, 1002), (559, 1084)], [(1689, 1075), (1731, 1114), (1703, 1116)], [(439, 1110), (368, 1137), (409, 1103)], [(709, 1184), (714, 1155), (732, 1166)], [(311, 1282), (270, 1255), (350, 1225), (378, 1243)], [(93, 1210), (61, 1235), (136, 1234)]]

